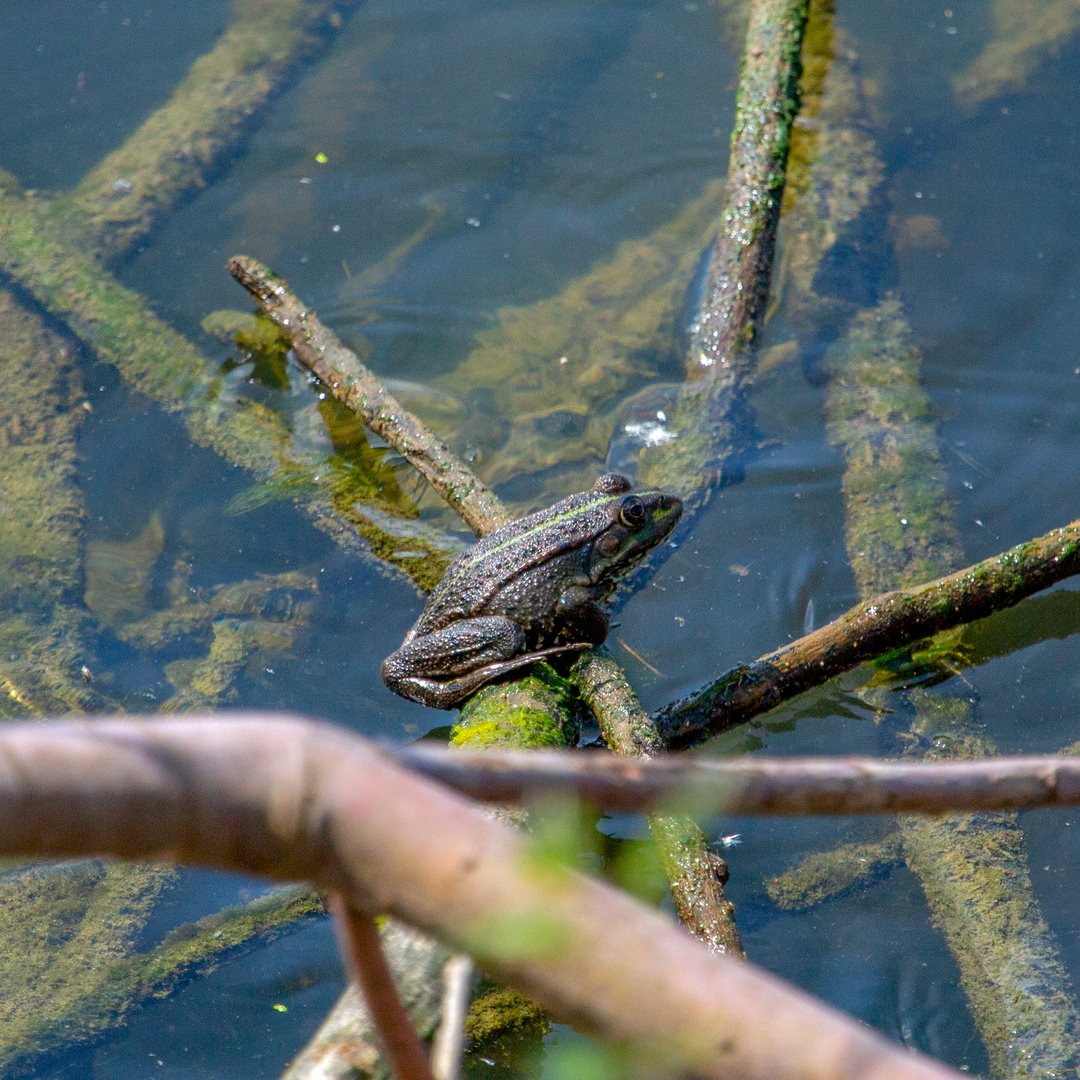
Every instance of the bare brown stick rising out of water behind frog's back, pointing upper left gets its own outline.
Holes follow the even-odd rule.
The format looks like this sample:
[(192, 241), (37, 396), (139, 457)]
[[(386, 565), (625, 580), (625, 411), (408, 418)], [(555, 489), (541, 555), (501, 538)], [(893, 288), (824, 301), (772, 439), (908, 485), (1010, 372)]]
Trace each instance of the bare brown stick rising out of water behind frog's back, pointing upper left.
[(229, 272), (285, 332), (300, 363), (397, 450), (476, 536), (507, 524), (509, 516), (498, 496), (388, 393), (360, 357), (297, 299), (287, 282), (244, 255), (229, 260)]

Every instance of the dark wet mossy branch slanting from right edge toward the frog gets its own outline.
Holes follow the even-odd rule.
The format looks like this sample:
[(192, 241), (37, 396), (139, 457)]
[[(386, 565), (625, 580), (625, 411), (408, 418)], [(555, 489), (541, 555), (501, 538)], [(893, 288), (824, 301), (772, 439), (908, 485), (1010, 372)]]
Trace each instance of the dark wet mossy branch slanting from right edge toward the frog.
[(914, 589), (870, 597), (653, 714), (664, 745), (703, 742), (866, 660), (982, 619), (1080, 572), (1080, 521)]

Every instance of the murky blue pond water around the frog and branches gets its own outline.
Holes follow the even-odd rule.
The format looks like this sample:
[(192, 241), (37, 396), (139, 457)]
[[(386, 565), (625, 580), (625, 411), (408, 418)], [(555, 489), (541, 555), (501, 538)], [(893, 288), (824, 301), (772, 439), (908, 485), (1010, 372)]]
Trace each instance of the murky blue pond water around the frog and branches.
[[(858, 86), (859, 130), (880, 175), (814, 288), (849, 312), (887, 294), (902, 303), (922, 353), (922, 419), (941, 447), (941, 498), (955, 504), (959, 545), (974, 562), (1080, 511), (1080, 48), (1071, 33), (1080, 16), (1069, 0), (948, 2), (837, 2), (834, 67), (847, 64)], [(1048, 30), (1015, 44), (1051, 9), (1057, 37)], [(450, 434), (460, 427), (467, 451), (515, 509), (543, 504), (603, 471), (603, 448), (581, 449), (593, 437), (582, 435), (588, 416), (544, 402), (537, 445), (554, 457), (541, 461), (537, 445), (526, 444), (511, 459), (505, 432), (516, 418), (505, 414), (514, 399), (504, 387), (515, 373), (494, 361), (485, 368), (475, 354), (463, 365), (501, 309), (541, 311), (545, 298), (570, 295), (576, 281), (610, 264), (624, 241), (666, 243), (665, 257), (692, 266), (710, 213), (684, 239), (657, 241), (657, 230), (725, 174), (738, 14), (706, 0), (365, 0), (343, 11), (206, 187), (113, 269), (229, 372), (230, 392), (289, 417), (297, 437), (325, 454), (318, 388), (296, 369), (260, 374), (202, 329), (212, 312), (249, 310), (225, 260), (261, 259), (378, 375), (416, 384), (405, 392), (421, 415), (434, 423), (442, 416)], [(226, 0), (5, 5), (0, 167), (28, 189), (73, 187), (167, 100), (228, 21)], [(975, 90), (973, 71), (982, 80)], [(802, 130), (818, 123), (808, 118)], [(675, 310), (643, 335), (599, 411), (679, 378), (675, 324), (692, 286), (683, 270), (672, 275)], [(666, 280), (630, 282), (627, 296)], [(572, 297), (571, 307), (620, 302), (600, 286)], [(609, 644), (646, 707), (858, 599), (845, 460), (825, 419), (822, 354), (840, 332), (827, 320), (808, 328), (793, 303), (785, 295), (766, 329), (767, 369), (751, 393), (755, 432), (740, 474), (680, 531), (677, 550), (619, 615)], [(548, 323), (538, 316), (536, 350), (545, 348), (541, 332), (557, 337), (551, 326), (567, 310), (551, 309)], [(795, 339), (798, 348), (785, 347)], [(378, 675), (421, 609), (413, 582), (335, 543), (287, 498), (253, 497), (251, 474), (195, 445), (181, 414), (76, 348), (91, 408), (78, 431), (85, 516), (81, 583), (69, 599), (84, 616), (80, 648), (103, 700), (129, 711), (165, 702), (295, 710), (394, 740), (445, 725), (447, 714), (394, 697)], [(483, 435), (492, 430), (502, 436)], [(373, 446), (365, 460), (392, 464)], [(467, 539), (407, 470), (392, 468), (421, 518)], [(266, 584), (268, 575), (292, 577)], [(264, 583), (254, 609), (213, 607), (217, 586), (253, 581)], [(1057, 592), (1065, 595), (988, 620), (977, 631), (977, 662), (927, 691), (968, 702), (971, 723), (1002, 752), (1052, 752), (1080, 732), (1070, 636), (1080, 599), (1072, 603), (1067, 586)], [(133, 636), (133, 625), (189, 595), (210, 605), (201, 624), (150, 644)], [(200, 683), (197, 665), (214, 659), (212, 623), (230, 619), (243, 624), (240, 659), (204, 667)], [(887, 712), (855, 693), (859, 678), (841, 683), (712, 750), (897, 753), (912, 700), (895, 693)], [(623, 818), (599, 827), (617, 838), (644, 835), (640, 822)], [(741, 835), (725, 856), (752, 960), (890, 1037), (986, 1072), (957, 962), (907, 868), (882, 868), (864, 888), (802, 910), (769, 899), (768, 879), (808, 853), (874, 839), (885, 824), (708, 827), (717, 837)], [(1025, 814), (1021, 827), (1034, 895), (1076, 981), (1080, 813)], [(260, 889), (185, 872), (135, 944), (150, 947), (172, 927)], [(328, 923), (310, 921), (30, 1068), (99, 1080), (148, 1069), (162, 1080), (276, 1077), (341, 987)], [(572, 1036), (556, 1030), (549, 1045), (561, 1040)], [(486, 1075), (482, 1063), (471, 1069)]]

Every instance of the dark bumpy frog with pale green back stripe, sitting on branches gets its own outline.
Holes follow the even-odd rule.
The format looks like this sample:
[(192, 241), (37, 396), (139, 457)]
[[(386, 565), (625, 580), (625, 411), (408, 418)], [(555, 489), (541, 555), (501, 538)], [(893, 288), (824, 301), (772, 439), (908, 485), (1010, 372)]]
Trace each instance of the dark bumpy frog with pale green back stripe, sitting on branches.
[(382, 662), (383, 683), (422, 705), (456, 708), (487, 683), (602, 645), (604, 603), (683, 513), (678, 496), (632, 488), (607, 473), (464, 551)]

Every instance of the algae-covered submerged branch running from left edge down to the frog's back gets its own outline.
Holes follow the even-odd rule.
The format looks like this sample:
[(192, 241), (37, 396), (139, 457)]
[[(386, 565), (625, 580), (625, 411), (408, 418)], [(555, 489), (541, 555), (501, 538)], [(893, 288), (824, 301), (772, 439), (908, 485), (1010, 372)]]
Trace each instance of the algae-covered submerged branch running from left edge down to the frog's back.
[[(166, 410), (183, 413), (198, 445), (265, 482), (292, 484), (293, 497), (314, 524), (347, 550), (363, 554), (360, 538), (366, 539), (380, 562), (421, 588), (442, 576), (448, 553), (415, 529), (396, 534), (395, 518), (417, 513), (410, 501), (401, 492), (391, 501), (393, 492), (356, 468), (356, 460), (342, 468), (325, 453), (298, 446), (286, 418), (237, 396), (205, 356), (69, 243), (48, 207), (22, 197), (6, 174), (0, 174), (0, 268), (132, 387)], [(367, 505), (372, 511), (365, 514)]]

